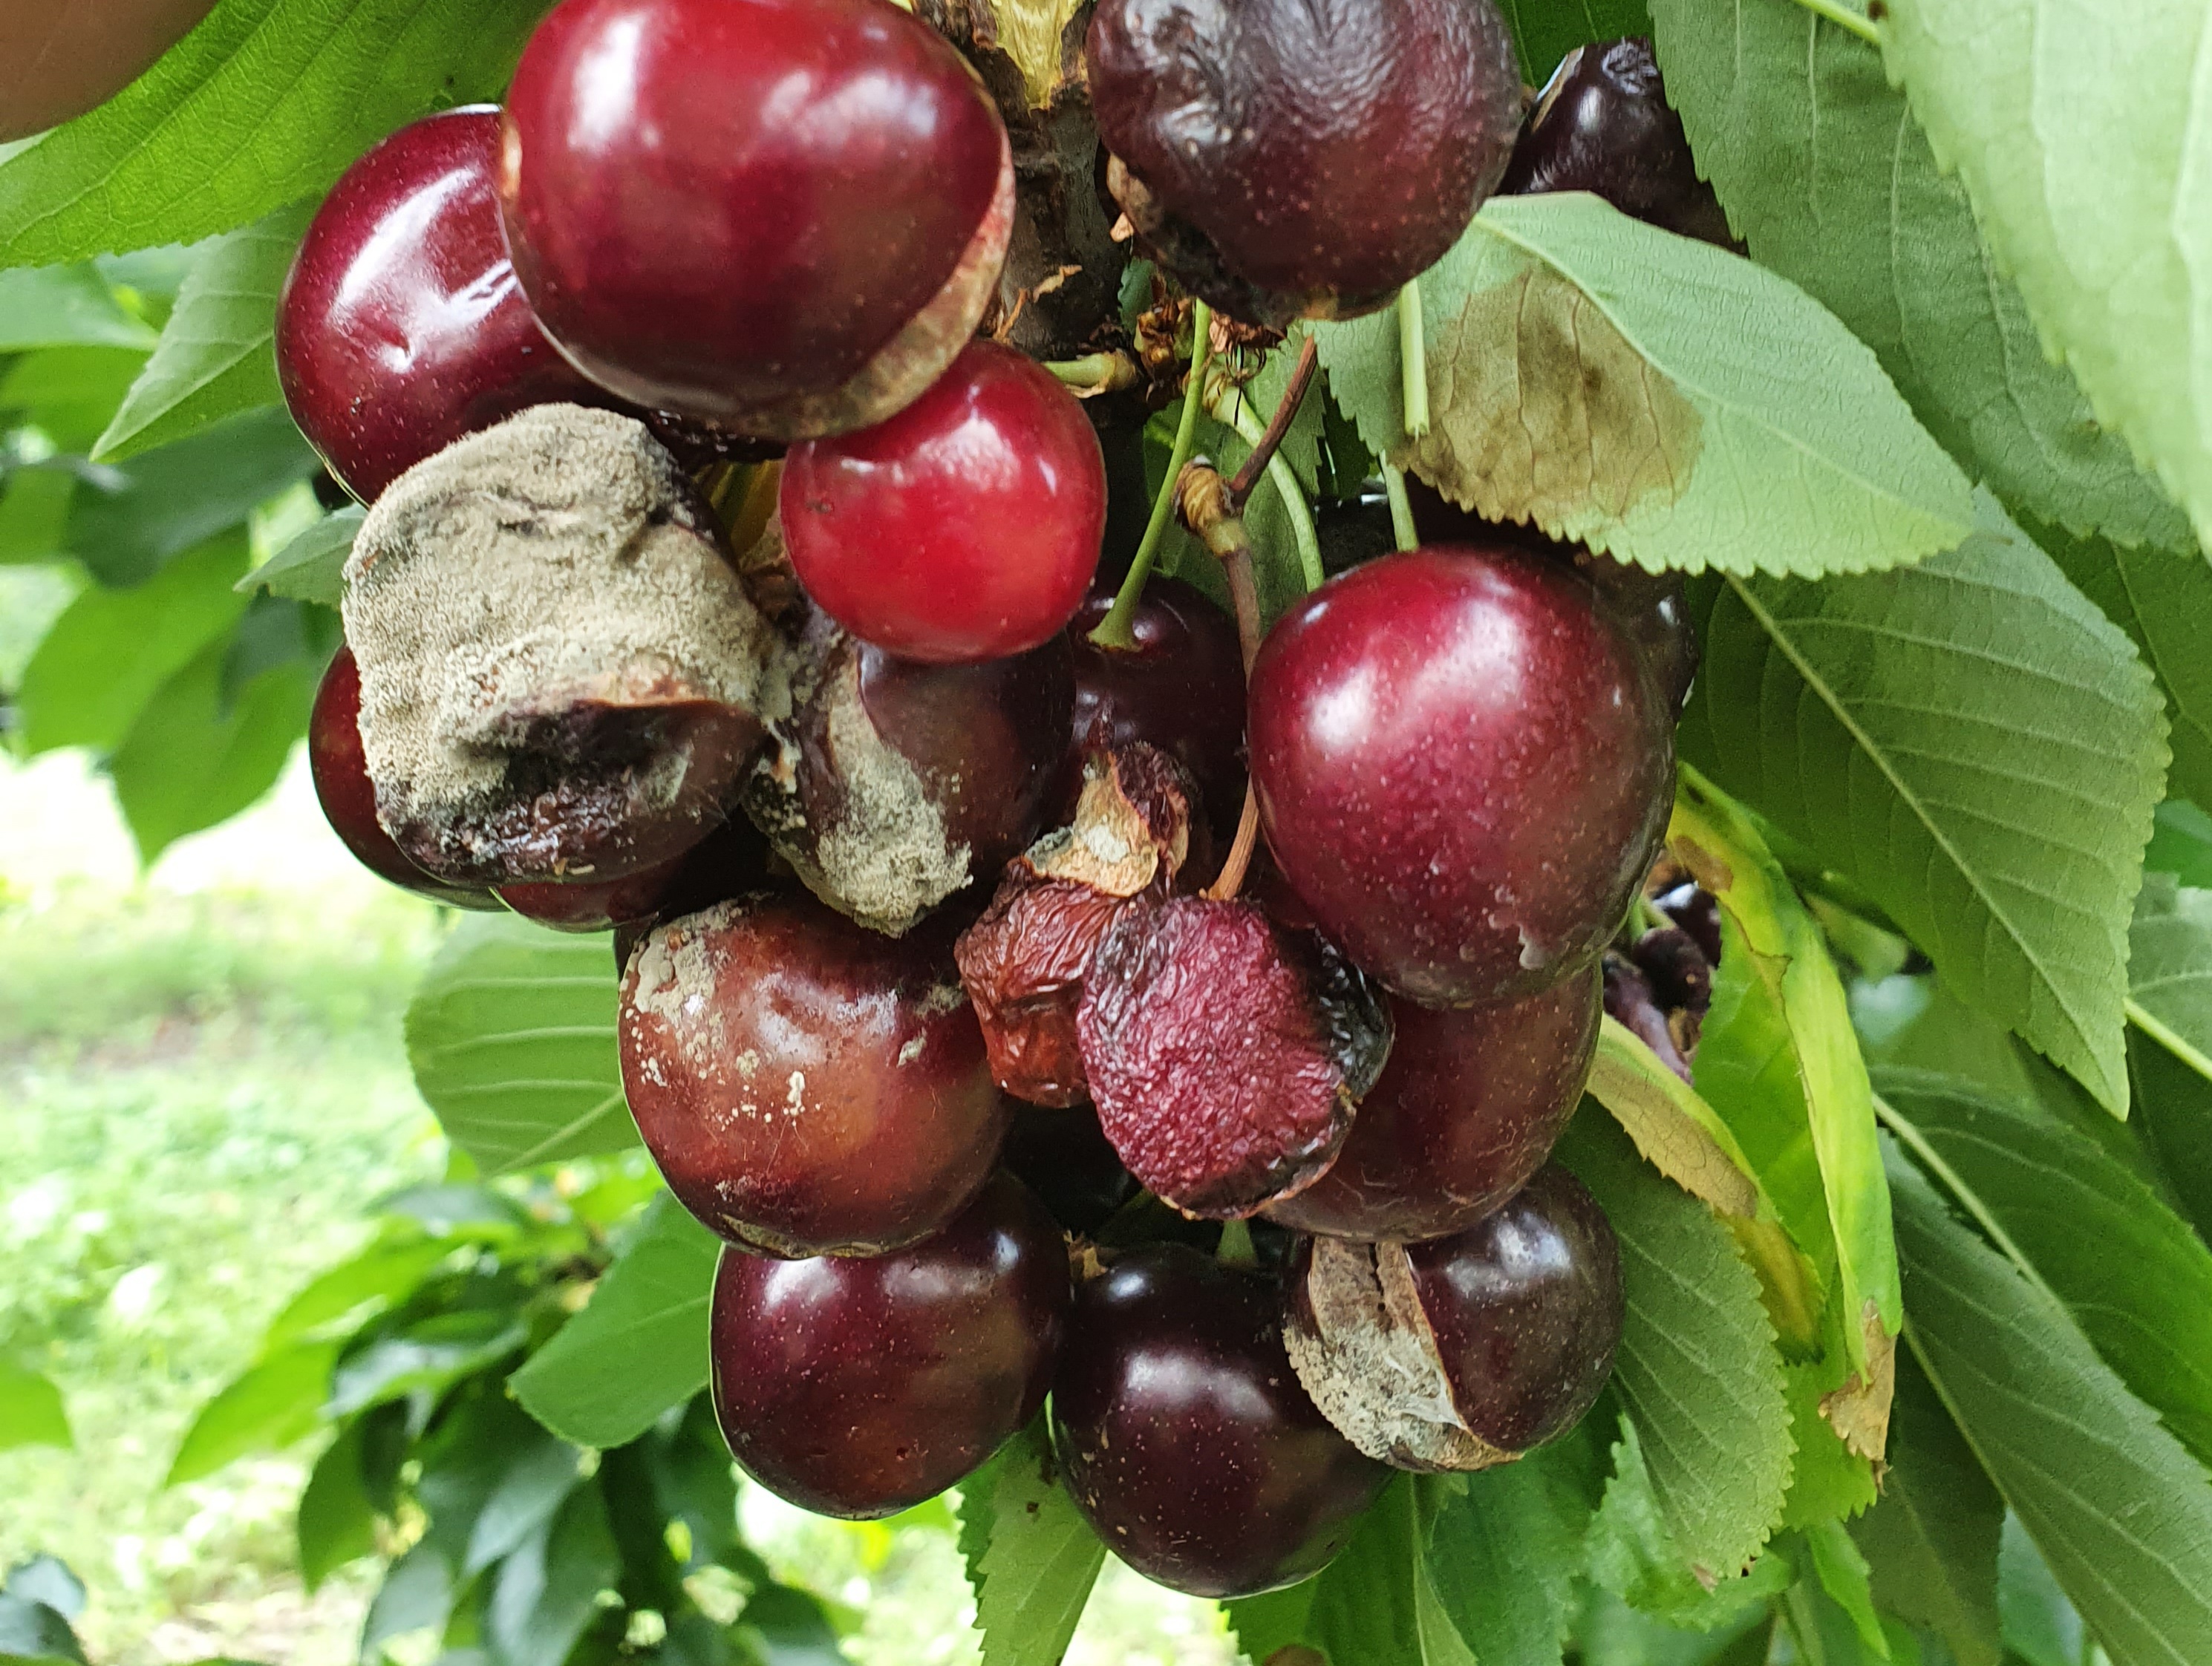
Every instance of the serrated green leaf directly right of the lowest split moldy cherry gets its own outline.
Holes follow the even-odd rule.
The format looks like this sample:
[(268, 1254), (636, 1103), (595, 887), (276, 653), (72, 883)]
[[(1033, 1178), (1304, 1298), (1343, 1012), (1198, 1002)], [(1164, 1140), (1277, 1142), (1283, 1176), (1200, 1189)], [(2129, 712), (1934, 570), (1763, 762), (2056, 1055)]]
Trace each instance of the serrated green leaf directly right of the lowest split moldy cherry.
[(1657, 1507), (1686, 1562), (1728, 1578), (1765, 1544), (1790, 1487), (1790, 1407), (1759, 1281), (1728, 1228), (1610, 1122), (1577, 1117), (1559, 1157), (1621, 1241), (1628, 1321), (1613, 1385)]

